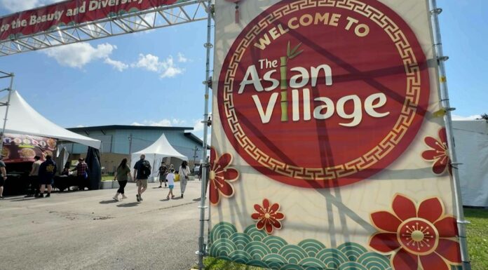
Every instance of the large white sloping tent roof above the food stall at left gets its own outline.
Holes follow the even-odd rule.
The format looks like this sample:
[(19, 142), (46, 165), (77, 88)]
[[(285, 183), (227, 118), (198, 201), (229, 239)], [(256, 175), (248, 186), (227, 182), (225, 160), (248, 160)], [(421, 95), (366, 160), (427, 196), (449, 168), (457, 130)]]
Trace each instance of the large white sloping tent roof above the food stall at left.
[[(7, 101), (8, 96), (0, 99), (0, 102), (6, 103)], [(6, 108), (6, 106), (0, 107), (1, 119), (5, 117)], [(0, 122), (3, 124), (3, 121)], [(96, 149), (100, 149), (101, 146), (99, 140), (73, 133), (49, 121), (27, 104), (15, 90), (11, 93), (5, 133), (52, 137), (58, 140), (77, 142)]]

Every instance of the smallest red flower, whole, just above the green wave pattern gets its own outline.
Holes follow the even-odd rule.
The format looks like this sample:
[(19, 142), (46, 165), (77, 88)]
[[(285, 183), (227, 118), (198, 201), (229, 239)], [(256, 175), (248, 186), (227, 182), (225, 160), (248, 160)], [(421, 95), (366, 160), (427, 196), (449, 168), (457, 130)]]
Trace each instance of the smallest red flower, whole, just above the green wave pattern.
[(263, 200), (263, 205), (255, 204), (255, 210), (257, 212), (251, 215), (253, 220), (257, 220), (256, 228), (262, 230), (266, 229), (268, 234), (273, 233), (273, 229), (281, 229), (281, 222), (285, 218), (280, 210), (280, 205), (278, 203), (273, 203), (269, 205), (267, 198)]

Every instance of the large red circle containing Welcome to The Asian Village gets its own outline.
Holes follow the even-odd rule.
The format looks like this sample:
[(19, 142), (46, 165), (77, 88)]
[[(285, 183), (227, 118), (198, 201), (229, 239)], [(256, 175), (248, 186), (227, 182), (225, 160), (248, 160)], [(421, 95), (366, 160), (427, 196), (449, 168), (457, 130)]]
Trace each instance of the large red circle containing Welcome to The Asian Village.
[(414, 140), (430, 93), (426, 56), (378, 1), (306, 3), (281, 1), (243, 29), (217, 107), (226, 137), (260, 173), (337, 187), (383, 170)]

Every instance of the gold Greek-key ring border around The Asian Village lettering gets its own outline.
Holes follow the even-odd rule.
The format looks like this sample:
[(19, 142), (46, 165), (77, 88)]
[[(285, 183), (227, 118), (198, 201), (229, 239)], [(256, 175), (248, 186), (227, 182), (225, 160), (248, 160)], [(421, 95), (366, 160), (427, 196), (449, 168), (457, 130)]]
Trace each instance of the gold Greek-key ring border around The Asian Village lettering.
[[(405, 74), (407, 75), (407, 88), (405, 92), (405, 100), (403, 102), (402, 111), (395, 123), (393, 129), (384, 137), (379, 144), (368, 151), (366, 154), (355, 158), (347, 163), (337, 166), (326, 168), (302, 168), (298, 166), (292, 166), (287, 163), (276, 160), (264, 151), (256, 147), (256, 145), (250, 140), (250, 138), (243, 132), (240, 126), (238, 117), (236, 115), (233, 105), (233, 81), (235, 79), (236, 70), (246, 48), (252, 44), (259, 33), (261, 33), (266, 27), (272, 25), (274, 21), (294, 11), (304, 10), (306, 8), (316, 8), (322, 6), (344, 8), (349, 11), (355, 11), (359, 15), (369, 18), (375, 22), (379, 27), (390, 36), (393, 43), (402, 58), (403, 65), (405, 67)], [(240, 41), (240, 44), (234, 51), (229, 62), (229, 66), (226, 69), (224, 78), (224, 112), (227, 123), (232, 130), (233, 136), (252, 158), (255, 159), (262, 166), (272, 170), (278, 175), (287, 177), (294, 177), (302, 180), (335, 180), (340, 177), (347, 177), (358, 173), (361, 170), (372, 167), (375, 163), (387, 156), (395, 146), (397, 146), (402, 138), (405, 136), (409, 126), (411, 126), (414, 117), (416, 115), (416, 108), (419, 104), (419, 97), (421, 93), (421, 76), (420, 68), (416, 61), (412, 46), (400, 27), (393, 22), (384, 13), (381, 13), (376, 8), (367, 5), (359, 0), (299, 0), (293, 1), (290, 4), (279, 8), (278, 10), (270, 13), (266, 18), (257, 23), (250, 31), (245, 35), (244, 39)]]

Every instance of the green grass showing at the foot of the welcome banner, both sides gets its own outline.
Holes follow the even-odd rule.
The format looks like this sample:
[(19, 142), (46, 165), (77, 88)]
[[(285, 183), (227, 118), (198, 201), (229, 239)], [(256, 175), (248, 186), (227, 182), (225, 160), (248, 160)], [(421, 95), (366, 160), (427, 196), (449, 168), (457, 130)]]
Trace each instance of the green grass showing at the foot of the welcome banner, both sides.
[[(468, 224), (468, 250), (472, 270), (488, 270), (488, 209), (465, 208)], [(205, 258), (205, 270), (264, 270), (213, 257)]]

